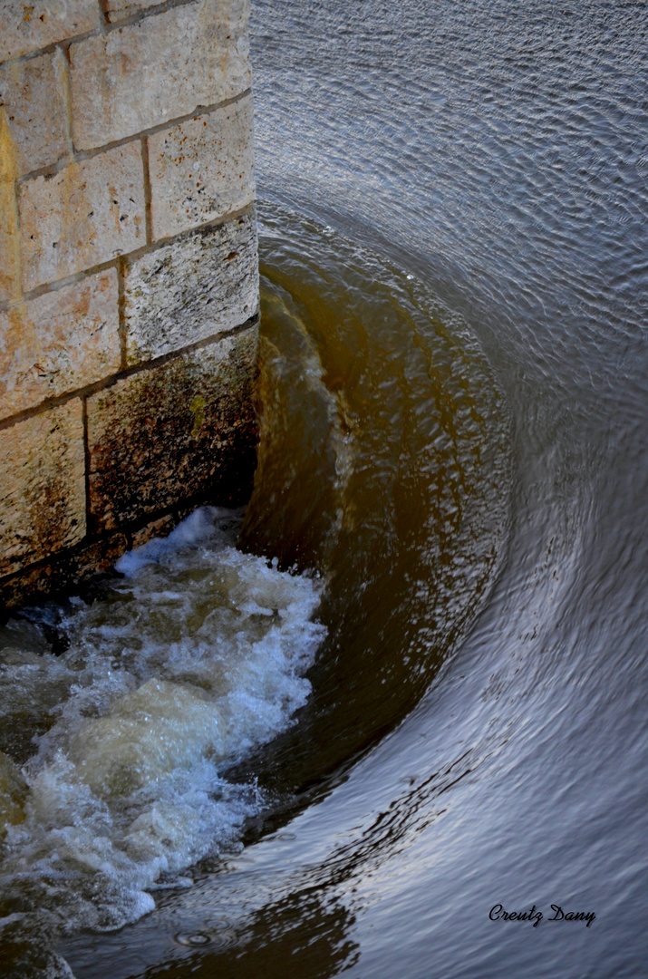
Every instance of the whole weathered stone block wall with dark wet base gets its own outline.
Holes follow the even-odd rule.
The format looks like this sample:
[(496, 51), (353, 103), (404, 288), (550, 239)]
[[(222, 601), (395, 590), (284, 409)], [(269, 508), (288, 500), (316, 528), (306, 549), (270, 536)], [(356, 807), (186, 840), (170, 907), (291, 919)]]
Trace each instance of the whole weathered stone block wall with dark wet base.
[(0, 0), (0, 599), (255, 461), (249, 0)]

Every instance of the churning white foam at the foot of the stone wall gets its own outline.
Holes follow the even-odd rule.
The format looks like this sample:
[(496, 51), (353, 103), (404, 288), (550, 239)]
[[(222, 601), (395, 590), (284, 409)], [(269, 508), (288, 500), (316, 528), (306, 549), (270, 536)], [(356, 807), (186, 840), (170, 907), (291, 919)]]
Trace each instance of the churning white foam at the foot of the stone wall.
[(4, 668), (28, 670), (25, 694), (51, 712), (7, 834), (8, 894), (119, 927), (155, 907), (150, 889), (186, 886), (188, 866), (236, 845), (263, 805), (222, 772), (292, 723), (324, 629), (317, 583), (238, 551), (235, 524), (204, 508), (125, 555), (106, 600), (76, 603), (62, 657)]

